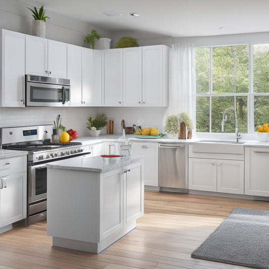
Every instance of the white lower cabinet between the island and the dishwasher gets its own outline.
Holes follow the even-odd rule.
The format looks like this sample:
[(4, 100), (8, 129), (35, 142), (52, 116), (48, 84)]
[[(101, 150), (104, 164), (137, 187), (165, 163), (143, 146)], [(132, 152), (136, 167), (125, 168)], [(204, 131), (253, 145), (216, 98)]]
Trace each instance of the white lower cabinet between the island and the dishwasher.
[(133, 141), (132, 154), (144, 156), (144, 184), (158, 186), (158, 143)]

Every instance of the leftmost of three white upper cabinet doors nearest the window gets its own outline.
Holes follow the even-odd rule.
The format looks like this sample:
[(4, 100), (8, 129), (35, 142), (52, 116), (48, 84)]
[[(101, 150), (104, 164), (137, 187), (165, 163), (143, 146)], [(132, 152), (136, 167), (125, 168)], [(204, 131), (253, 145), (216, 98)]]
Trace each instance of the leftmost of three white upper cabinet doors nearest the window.
[(102, 50), (103, 105), (123, 105), (123, 49)]

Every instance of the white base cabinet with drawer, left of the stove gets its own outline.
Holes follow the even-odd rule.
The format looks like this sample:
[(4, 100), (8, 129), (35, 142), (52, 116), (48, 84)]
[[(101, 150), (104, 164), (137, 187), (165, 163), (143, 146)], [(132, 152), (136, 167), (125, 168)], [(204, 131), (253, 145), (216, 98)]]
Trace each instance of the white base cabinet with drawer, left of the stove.
[(26, 156), (0, 160), (0, 232), (26, 218), (26, 165)]

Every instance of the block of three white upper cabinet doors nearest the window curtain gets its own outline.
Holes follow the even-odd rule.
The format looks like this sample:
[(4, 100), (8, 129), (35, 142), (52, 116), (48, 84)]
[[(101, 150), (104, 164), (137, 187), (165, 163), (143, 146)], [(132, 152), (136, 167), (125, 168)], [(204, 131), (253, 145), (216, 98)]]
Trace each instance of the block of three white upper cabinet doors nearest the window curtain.
[(169, 53), (165, 45), (103, 50), (103, 104), (167, 106)]

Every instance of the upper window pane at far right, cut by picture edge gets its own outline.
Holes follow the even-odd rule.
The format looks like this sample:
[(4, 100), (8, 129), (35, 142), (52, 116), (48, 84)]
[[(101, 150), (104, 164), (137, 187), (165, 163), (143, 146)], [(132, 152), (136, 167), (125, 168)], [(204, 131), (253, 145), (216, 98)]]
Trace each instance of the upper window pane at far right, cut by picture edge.
[(254, 92), (269, 92), (269, 44), (253, 45)]

